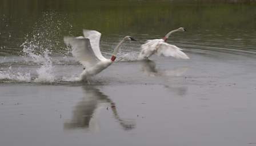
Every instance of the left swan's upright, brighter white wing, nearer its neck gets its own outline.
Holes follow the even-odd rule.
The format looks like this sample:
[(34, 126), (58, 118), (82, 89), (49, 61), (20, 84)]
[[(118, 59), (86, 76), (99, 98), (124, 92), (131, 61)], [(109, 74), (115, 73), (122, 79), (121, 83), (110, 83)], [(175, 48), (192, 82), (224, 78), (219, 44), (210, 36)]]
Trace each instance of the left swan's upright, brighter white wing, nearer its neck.
[(93, 48), (93, 51), (95, 55), (98, 57), (98, 59), (102, 61), (107, 60), (101, 54), (101, 49), (99, 48), (99, 40), (101, 40), (101, 33), (95, 30), (83, 30), (83, 36), (85, 36), (85, 38), (90, 39), (91, 48)]

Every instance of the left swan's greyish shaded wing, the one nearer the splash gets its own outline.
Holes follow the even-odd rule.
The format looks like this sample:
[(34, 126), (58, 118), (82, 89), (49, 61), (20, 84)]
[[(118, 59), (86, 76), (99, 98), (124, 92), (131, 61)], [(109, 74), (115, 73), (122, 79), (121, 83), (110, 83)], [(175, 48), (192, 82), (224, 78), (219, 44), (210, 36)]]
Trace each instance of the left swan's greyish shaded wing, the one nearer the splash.
[(100, 61), (94, 54), (89, 39), (65, 36), (64, 42), (71, 46), (73, 56), (86, 68)]

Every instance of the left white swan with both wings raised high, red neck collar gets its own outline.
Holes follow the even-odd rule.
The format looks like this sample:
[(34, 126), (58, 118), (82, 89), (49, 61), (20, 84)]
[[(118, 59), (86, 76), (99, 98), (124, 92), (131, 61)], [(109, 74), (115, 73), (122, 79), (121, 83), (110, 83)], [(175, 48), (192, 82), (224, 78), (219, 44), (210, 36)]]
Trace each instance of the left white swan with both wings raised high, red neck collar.
[(117, 56), (119, 47), (126, 40), (135, 40), (131, 36), (125, 36), (121, 42), (114, 48), (114, 52), (110, 59), (106, 59), (99, 49), (99, 40), (101, 33), (95, 30), (83, 30), (84, 36), (71, 37), (65, 36), (64, 42), (67, 46), (71, 46), (73, 56), (85, 66), (80, 75), (80, 80), (96, 75), (112, 64)]

